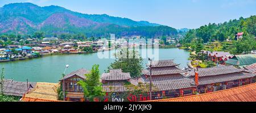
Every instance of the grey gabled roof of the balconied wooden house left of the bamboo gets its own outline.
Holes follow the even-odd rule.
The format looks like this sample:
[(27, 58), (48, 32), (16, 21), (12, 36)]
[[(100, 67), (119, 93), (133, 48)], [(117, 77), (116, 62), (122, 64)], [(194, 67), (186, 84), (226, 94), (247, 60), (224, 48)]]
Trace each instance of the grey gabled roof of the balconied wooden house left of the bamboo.
[[(86, 79), (85, 74), (88, 74), (88, 73), (90, 73), (88, 70), (81, 68), (79, 70), (76, 70), (75, 72), (71, 72), (71, 73), (65, 75), (65, 79), (72, 77), (72, 76), (79, 76), (82, 79)], [(61, 78), (60, 81), (61, 80), (63, 80), (63, 78)]]

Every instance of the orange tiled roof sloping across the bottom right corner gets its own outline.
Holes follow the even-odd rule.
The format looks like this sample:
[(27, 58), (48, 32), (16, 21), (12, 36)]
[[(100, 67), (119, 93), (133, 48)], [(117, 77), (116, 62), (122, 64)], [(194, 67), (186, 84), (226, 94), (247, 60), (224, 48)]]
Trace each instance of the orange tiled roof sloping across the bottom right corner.
[(212, 93), (147, 102), (256, 102), (256, 83)]

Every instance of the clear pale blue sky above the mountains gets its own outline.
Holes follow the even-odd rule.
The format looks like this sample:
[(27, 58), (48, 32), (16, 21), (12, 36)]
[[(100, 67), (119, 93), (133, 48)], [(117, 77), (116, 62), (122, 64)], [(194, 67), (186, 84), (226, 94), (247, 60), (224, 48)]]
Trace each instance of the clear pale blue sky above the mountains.
[(146, 20), (174, 28), (199, 28), (256, 15), (256, 0), (0, 0), (0, 7), (20, 2), (56, 5), (84, 14)]

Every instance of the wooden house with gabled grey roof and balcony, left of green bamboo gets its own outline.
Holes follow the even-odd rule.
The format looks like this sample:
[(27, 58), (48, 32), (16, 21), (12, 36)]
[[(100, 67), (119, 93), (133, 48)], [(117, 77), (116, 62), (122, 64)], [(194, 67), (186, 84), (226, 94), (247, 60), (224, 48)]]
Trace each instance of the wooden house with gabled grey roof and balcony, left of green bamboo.
[[(85, 74), (88, 74), (89, 71), (81, 68), (75, 72), (69, 73), (60, 79), (60, 84), (64, 90), (67, 92), (65, 95), (65, 100), (67, 101), (84, 101), (84, 91), (82, 87), (77, 83), (79, 81), (85, 81)], [(65, 82), (64, 82), (65, 81)]]

